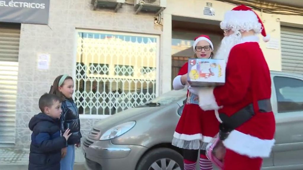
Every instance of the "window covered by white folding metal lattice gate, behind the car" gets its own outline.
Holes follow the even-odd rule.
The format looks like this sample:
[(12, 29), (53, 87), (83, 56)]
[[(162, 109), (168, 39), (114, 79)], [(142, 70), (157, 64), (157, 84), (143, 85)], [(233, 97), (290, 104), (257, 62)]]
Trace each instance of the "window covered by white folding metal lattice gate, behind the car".
[(112, 115), (155, 98), (158, 43), (155, 35), (79, 30), (79, 113)]

